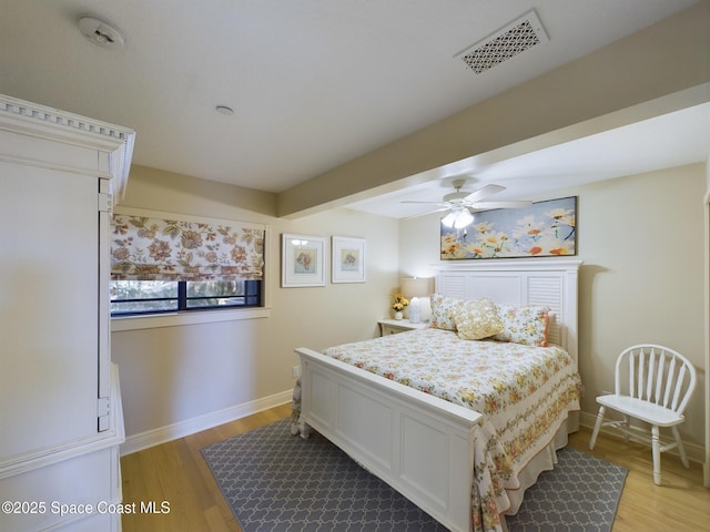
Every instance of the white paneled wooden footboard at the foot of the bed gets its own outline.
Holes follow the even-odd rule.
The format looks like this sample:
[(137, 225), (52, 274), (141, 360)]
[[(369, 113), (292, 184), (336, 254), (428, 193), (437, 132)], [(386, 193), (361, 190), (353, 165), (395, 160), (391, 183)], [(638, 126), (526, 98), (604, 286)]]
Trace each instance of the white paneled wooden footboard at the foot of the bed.
[(301, 419), (453, 531), (470, 530), (483, 416), (307, 348)]

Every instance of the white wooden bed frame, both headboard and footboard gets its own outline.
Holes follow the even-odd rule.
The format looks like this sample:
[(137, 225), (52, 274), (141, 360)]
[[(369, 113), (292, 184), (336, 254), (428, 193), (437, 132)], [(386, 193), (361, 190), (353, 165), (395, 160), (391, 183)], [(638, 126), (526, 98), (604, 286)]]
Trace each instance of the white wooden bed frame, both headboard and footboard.
[[(442, 264), (439, 294), (550, 307), (550, 341), (577, 360), (580, 260)], [(295, 351), (303, 369), (302, 434), (317, 430), (449, 530), (470, 531), (469, 436), (483, 416), (313, 349)]]

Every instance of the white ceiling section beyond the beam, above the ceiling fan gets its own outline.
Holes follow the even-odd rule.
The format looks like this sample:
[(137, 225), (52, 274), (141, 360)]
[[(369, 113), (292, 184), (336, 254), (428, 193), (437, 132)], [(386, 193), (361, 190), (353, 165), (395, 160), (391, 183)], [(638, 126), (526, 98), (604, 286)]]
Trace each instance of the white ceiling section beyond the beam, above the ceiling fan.
[[(601, 155), (602, 154), (602, 155)], [(524, 155), (499, 158), (485, 154), (459, 161), (450, 176), (398, 190), (349, 205), (349, 208), (396, 218), (418, 216), (436, 205), (404, 201), (440, 201), (454, 192), (452, 182), (466, 180), (464, 191), (494, 183), (506, 187), (487, 200), (539, 200), (548, 192), (587, 183), (704, 162), (710, 154), (710, 103), (688, 108), (557, 144)], [(601, 155), (601, 156), (600, 156)], [(471, 167), (466, 172), (466, 167)]]

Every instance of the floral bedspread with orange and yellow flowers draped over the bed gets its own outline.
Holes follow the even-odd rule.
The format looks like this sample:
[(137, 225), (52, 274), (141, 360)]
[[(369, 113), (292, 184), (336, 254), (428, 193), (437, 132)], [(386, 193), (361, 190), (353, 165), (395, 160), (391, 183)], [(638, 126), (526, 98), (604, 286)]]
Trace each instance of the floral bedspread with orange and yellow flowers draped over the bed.
[(474, 436), (476, 532), (501, 530), (500, 514), (510, 507), (506, 490), (520, 488), (518, 473), (550, 443), (568, 413), (579, 410), (581, 381), (558, 346), (462, 340), (428, 328), (324, 354), (484, 415)]

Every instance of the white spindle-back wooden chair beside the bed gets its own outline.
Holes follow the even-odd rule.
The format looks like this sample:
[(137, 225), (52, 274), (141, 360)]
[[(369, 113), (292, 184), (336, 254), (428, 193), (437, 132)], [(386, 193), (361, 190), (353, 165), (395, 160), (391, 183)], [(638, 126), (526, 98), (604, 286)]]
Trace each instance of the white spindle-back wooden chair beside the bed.
[[(589, 440), (595, 448), (601, 427), (612, 427), (629, 438), (648, 443), (649, 433), (631, 426), (638, 419), (651, 426), (653, 482), (661, 483), (661, 452), (678, 448), (680, 461), (689, 468), (678, 426), (684, 421), (683, 411), (696, 387), (696, 368), (668, 347), (642, 344), (627, 348), (617, 358), (613, 393), (597, 397), (600, 405), (597, 422)], [(606, 409), (616, 410), (622, 420), (604, 421)], [(670, 427), (674, 442), (661, 444), (660, 427)]]

